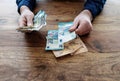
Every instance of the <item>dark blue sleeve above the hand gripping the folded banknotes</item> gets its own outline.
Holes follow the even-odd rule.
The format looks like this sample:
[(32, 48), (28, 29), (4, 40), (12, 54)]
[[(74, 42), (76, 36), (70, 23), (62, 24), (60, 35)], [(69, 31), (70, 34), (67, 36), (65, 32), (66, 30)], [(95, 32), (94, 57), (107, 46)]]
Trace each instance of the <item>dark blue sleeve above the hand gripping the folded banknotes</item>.
[(18, 12), (20, 13), (20, 7), (25, 5), (27, 6), (31, 11), (33, 11), (36, 0), (16, 0), (16, 4), (18, 6)]

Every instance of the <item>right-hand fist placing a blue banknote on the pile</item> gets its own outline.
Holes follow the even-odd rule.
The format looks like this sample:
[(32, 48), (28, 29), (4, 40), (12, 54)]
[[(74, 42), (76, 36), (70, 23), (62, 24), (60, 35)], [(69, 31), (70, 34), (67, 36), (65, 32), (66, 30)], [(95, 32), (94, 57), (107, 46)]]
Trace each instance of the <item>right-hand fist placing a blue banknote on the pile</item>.
[(92, 15), (88, 10), (83, 10), (73, 22), (73, 26), (69, 29), (71, 32), (75, 31), (78, 35), (88, 34), (92, 30)]

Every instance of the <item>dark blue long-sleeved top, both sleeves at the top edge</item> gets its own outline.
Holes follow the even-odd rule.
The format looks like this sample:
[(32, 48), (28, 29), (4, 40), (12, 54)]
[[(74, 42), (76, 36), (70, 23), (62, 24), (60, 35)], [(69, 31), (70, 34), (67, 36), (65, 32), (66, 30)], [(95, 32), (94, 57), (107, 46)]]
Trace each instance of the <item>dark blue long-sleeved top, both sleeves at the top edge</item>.
[[(106, 0), (86, 0), (84, 4), (84, 9), (89, 10), (92, 13), (93, 18), (95, 18), (103, 9)], [(33, 11), (35, 7), (36, 0), (16, 0), (18, 5), (18, 12), (20, 12), (20, 7), (25, 5)]]

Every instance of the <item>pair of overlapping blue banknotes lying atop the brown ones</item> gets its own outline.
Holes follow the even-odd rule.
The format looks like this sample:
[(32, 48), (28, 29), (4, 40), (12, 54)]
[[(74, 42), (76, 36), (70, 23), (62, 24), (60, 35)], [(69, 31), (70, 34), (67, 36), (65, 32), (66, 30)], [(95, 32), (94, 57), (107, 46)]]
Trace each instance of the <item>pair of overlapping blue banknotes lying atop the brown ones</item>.
[(60, 22), (58, 30), (49, 30), (46, 37), (46, 50), (63, 50), (64, 43), (76, 38), (75, 32), (69, 32), (72, 22)]

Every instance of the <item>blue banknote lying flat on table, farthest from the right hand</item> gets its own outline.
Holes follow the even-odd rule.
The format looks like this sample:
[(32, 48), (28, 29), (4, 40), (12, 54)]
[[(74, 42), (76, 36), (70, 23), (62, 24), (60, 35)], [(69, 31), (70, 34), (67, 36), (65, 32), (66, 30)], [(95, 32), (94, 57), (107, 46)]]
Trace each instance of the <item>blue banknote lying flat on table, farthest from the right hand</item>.
[(46, 37), (46, 48), (45, 50), (62, 50), (64, 45), (62, 39), (58, 36), (58, 30), (49, 30)]

